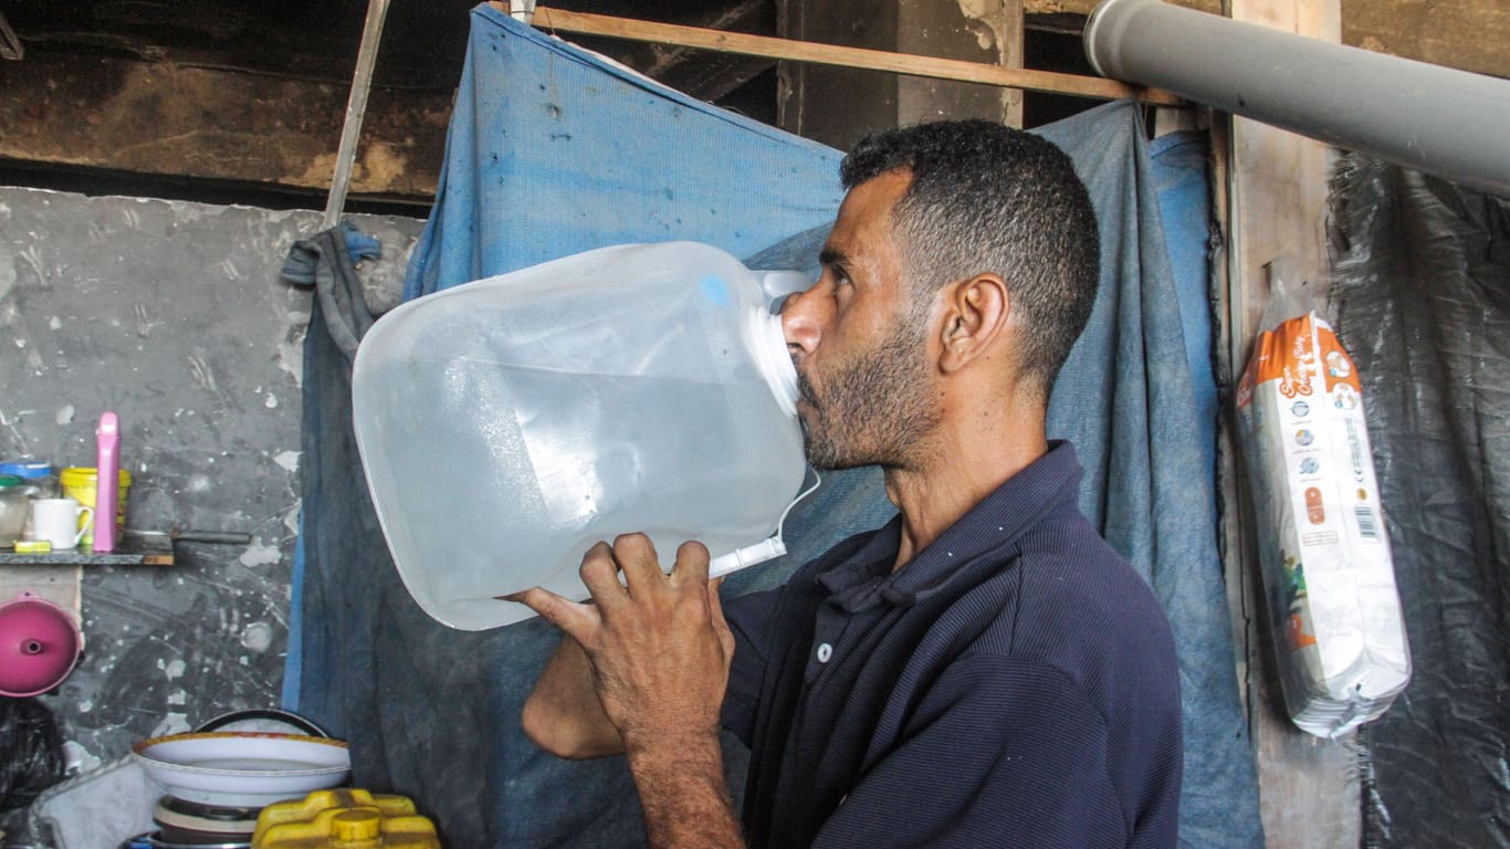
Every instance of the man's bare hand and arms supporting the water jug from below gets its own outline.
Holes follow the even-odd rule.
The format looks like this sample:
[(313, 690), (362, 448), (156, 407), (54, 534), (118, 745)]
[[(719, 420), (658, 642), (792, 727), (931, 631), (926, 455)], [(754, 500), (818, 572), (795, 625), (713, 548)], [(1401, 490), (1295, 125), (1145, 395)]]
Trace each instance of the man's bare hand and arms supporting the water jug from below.
[(568, 757), (624, 751), (651, 846), (743, 847), (719, 746), (734, 634), (708, 550), (684, 542), (666, 576), (631, 533), (587, 551), (581, 580), (592, 604), (541, 588), (516, 597), (566, 633), (525, 704), (525, 733)]

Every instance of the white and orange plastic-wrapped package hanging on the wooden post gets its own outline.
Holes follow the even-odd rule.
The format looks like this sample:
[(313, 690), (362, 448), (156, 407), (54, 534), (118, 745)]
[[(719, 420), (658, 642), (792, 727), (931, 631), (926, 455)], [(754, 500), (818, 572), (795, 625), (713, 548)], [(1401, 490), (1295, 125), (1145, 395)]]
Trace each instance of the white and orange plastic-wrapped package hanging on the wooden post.
[(1336, 737), (1410, 681), (1357, 370), (1299, 287), (1273, 275), (1237, 390), (1285, 709)]

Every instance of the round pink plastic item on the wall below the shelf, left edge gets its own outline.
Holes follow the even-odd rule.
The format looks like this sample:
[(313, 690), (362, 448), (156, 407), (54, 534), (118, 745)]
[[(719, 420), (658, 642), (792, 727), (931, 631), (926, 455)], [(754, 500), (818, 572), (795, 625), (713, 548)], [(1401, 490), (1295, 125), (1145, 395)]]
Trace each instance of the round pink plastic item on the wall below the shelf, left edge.
[(63, 683), (80, 642), (68, 610), (35, 592), (0, 604), (0, 695), (35, 696)]

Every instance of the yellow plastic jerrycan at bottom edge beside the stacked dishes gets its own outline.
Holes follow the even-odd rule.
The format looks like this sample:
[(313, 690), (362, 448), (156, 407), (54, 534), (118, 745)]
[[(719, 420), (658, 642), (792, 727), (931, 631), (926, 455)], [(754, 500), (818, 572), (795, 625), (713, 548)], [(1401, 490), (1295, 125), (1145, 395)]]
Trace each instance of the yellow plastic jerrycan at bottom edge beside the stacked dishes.
[(257, 816), (252, 849), (441, 849), (435, 823), (403, 796), (316, 790)]

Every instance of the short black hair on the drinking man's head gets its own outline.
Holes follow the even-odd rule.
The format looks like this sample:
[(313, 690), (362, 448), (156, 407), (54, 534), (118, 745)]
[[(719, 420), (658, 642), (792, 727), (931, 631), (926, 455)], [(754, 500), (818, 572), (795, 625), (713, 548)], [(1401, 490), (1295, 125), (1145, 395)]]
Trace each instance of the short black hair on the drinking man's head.
[(865, 136), (840, 165), (846, 189), (892, 171), (912, 183), (892, 227), (920, 305), (938, 287), (1001, 275), (1018, 313), (1019, 373), (1048, 397), (1096, 301), (1101, 243), (1086, 186), (1051, 142), (989, 121)]

